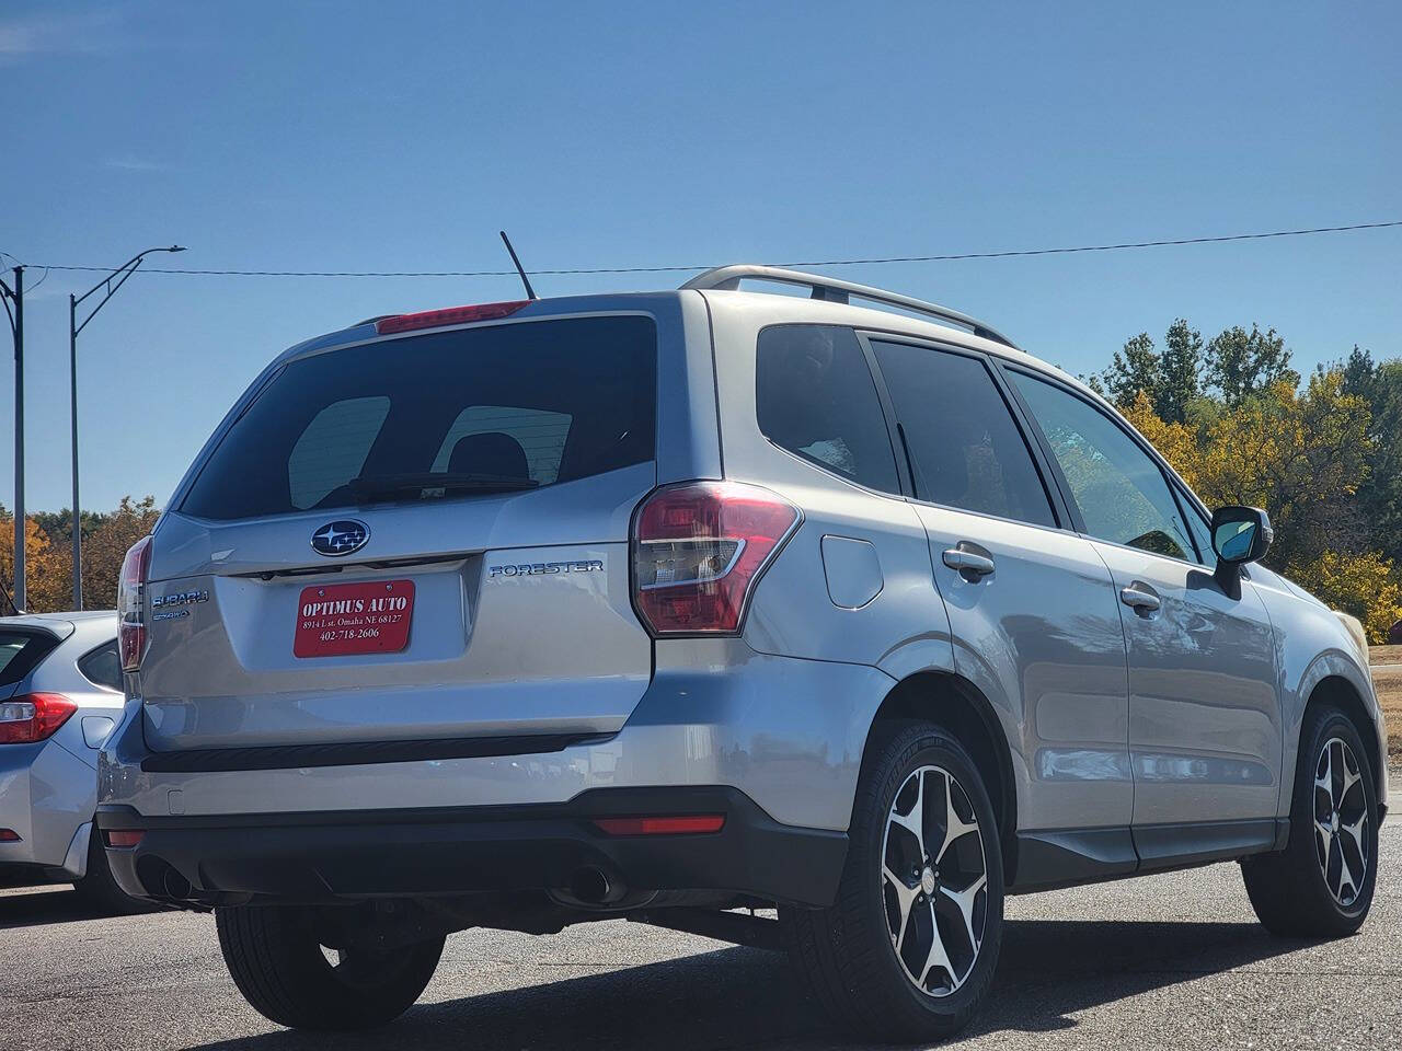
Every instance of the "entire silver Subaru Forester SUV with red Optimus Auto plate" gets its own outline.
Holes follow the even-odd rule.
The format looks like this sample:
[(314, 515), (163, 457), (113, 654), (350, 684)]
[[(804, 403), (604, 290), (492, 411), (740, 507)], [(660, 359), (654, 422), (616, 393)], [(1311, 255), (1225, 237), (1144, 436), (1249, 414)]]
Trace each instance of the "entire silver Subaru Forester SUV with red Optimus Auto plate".
[(456, 930), (629, 916), (938, 1037), (1007, 894), (1239, 860), (1270, 930), (1363, 922), (1367, 646), (1270, 540), (878, 289), (373, 318), (278, 357), (128, 555), (98, 824), (286, 1026), (388, 1022)]

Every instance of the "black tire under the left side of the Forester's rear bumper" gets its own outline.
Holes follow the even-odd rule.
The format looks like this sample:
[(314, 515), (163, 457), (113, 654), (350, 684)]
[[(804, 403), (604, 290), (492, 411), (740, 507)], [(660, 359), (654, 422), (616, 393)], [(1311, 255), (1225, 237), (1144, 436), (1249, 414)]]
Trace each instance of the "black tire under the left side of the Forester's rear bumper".
[(384, 953), (350, 950), (334, 964), (304, 909), (234, 905), (215, 909), (215, 921), (244, 999), (289, 1029), (359, 1030), (393, 1022), (414, 1006), (443, 953), (439, 937)]

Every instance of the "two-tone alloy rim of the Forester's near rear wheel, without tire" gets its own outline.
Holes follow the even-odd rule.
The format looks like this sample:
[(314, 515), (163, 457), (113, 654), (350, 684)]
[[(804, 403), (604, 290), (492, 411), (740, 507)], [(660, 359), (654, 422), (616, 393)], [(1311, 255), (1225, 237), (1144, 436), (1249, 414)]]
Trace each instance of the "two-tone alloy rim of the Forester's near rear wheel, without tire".
[(973, 804), (949, 771), (920, 767), (896, 792), (880, 879), (906, 977), (930, 996), (959, 989), (983, 946), (988, 867)]

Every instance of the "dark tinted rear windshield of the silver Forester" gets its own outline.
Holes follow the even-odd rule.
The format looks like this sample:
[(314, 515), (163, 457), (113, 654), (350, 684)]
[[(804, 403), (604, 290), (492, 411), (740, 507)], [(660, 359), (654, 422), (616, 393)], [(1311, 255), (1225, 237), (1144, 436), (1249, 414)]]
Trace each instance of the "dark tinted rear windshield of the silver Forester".
[(289, 362), (181, 510), (230, 520), (471, 496), (646, 462), (656, 348), (646, 317), (566, 318)]

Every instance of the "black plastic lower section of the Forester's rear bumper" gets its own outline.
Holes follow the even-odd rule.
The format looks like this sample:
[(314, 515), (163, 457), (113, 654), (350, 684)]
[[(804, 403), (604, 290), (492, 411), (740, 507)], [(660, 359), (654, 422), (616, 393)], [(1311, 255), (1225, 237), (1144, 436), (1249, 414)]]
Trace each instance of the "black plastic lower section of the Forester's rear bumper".
[[(648, 814), (723, 814), (725, 825), (611, 837), (593, 824)], [(829, 905), (847, 856), (845, 832), (782, 825), (744, 793), (707, 786), (596, 789), (564, 804), (220, 817), (146, 817), (105, 804), (98, 827), (144, 832), (135, 848), (108, 849), (128, 894), (209, 904), (562, 890), (597, 869), (628, 891)], [(184, 884), (191, 891), (175, 893)]]

